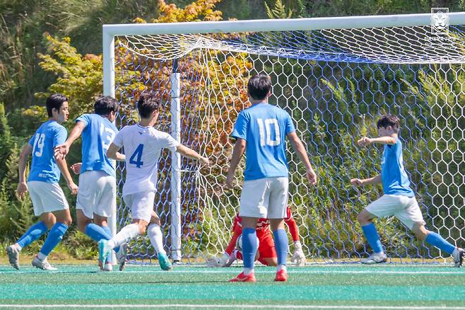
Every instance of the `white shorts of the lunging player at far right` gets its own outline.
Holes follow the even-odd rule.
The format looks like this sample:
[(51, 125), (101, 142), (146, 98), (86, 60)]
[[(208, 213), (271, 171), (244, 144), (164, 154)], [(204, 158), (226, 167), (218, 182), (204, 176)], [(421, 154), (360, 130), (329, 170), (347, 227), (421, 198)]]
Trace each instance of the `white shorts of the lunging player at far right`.
[(423, 214), (421, 214), (415, 197), (382, 195), (365, 209), (377, 217), (394, 215), (409, 229), (412, 229), (415, 223), (425, 224)]

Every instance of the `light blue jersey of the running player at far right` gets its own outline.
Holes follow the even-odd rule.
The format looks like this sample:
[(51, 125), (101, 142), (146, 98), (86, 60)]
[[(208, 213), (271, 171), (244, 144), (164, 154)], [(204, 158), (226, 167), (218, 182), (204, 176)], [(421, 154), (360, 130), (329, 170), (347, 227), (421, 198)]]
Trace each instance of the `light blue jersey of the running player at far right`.
[(410, 181), (404, 168), (402, 158), (402, 142), (396, 139), (396, 144), (385, 144), (381, 161), (381, 178), (384, 194), (414, 197)]

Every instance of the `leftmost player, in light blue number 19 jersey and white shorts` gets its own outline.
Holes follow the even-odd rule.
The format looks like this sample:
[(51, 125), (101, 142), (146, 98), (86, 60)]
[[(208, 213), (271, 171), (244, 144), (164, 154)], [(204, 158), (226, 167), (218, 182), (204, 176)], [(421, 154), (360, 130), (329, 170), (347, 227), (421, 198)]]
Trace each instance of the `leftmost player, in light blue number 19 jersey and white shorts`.
[[(55, 93), (47, 98), (46, 106), (49, 120), (35, 132), (21, 151), (19, 158), (19, 184), (16, 192), (22, 199), (29, 191), (34, 215), (40, 217), (40, 222), (31, 226), (16, 243), (6, 248), (8, 260), (16, 269), (19, 269), (21, 249), (39, 239), (50, 229), (44, 245), (33, 259), (33, 266), (42, 270), (57, 270), (48, 263), (47, 256), (63, 239), (66, 229), (71, 225), (68, 202), (58, 184), (60, 171), (71, 193), (75, 195), (78, 192), (78, 187), (69, 174), (66, 161), (64, 159), (55, 161), (53, 156), (53, 148), (66, 139), (67, 132), (61, 123), (68, 119), (68, 98)], [(26, 166), (31, 154), (33, 163), (26, 183)]]

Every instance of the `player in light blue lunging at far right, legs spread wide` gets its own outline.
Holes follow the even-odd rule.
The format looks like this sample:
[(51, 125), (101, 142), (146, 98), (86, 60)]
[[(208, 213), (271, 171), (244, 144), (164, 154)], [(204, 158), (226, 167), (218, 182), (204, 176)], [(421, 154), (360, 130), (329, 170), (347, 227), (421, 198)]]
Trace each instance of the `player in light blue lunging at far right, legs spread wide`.
[(402, 143), (399, 139), (399, 117), (396, 115), (383, 115), (379, 118), (377, 127), (378, 138), (363, 137), (357, 143), (360, 147), (367, 147), (373, 143), (384, 144), (381, 173), (372, 178), (363, 180), (353, 178), (351, 180), (351, 184), (355, 186), (382, 183), (384, 189), (382, 197), (370, 203), (358, 214), (358, 222), (360, 222), (363, 234), (365, 234), (365, 238), (373, 250), (372, 255), (364, 258), (362, 263), (375, 264), (387, 260), (372, 219), (394, 215), (411, 229), (418, 239), (452, 255), (454, 265), (460, 267), (464, 260), (464, 250), (453, 246), (439, 234), (425, 228), (423, 215), (420, 207), (418, 207), (415, 194), (410, 188), (410, 181), (404, 168)]

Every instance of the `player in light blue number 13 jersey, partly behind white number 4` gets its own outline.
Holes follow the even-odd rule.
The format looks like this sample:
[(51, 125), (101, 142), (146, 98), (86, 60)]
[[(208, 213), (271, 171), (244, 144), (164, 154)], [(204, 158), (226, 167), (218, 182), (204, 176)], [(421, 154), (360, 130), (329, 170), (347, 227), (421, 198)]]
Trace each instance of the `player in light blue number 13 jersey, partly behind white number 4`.
[[(111, 239), (112, 235), (107, 218), (116, 208), (116, 174), (115, 163), (107, 157), (107, 149), (118, 133), (113, 124), (117, 110), (114, 98), (98, 98), (94, 103), (95, 113), (78, 117), (66, 142), (55, 148), (55, 156), (64, 158), (71, 144), (82, 134), (82, 163), (72, 166), (75, 173), (80, 172), (76, 218), (78, 229), (97, 242)], [(124, 155), (117, 154), (118, 160), (124, 161), (124, 158)], [(123, 253), (119, 252), (125, 252), (126, 246), (124, 244), (121, 251), (116, 249), (119, 258), (123, 257)], [(124, 261), (119, 261), (119, 269), (123, 268)], [(110, 271), (112, 263), (100, 265), (100, 269)]]

